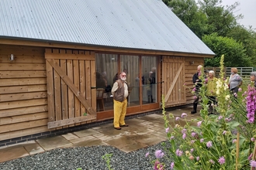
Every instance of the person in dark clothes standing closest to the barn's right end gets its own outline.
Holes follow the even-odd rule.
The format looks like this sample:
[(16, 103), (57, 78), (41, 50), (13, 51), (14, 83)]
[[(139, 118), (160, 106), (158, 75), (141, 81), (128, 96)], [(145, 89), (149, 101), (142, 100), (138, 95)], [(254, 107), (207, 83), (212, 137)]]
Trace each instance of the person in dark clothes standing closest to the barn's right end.
[(202, 66), (197, 66), (197, 72), (193, 75), (192, 81), (195, 85), (195, 99), (193, 101), (193, 110), (191, 111), (191, 114), (195, 114), (197, 111), (197, 104), (199, 103), (199, 90), (200, 87), (202, 87), (202, 80), (199, 79), (199, 76), (201, 75), (201, 69)]

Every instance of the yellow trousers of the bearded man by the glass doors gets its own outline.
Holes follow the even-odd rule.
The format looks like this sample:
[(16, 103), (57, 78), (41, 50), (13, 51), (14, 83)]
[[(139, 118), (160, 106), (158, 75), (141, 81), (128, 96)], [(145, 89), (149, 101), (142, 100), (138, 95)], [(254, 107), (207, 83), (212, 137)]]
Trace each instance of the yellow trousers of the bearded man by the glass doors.
[(127, 100), (119, 102), (114, 100), (114, 127), (118, 128), (120, 125), (126, 124), (124, 117), (126, 117)]

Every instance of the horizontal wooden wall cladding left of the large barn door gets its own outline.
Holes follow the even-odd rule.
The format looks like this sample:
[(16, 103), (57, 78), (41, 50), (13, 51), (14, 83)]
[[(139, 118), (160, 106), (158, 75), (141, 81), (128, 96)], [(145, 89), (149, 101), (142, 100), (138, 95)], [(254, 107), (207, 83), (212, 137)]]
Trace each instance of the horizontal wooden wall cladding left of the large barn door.
[(44, 48), (0, 45), (0, 140), (48, 131), (47, 109)]

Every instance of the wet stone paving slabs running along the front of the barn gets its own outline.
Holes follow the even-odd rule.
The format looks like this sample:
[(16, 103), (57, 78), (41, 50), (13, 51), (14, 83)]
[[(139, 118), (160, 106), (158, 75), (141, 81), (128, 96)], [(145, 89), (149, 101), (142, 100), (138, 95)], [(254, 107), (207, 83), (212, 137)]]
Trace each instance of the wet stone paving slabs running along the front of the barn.
[[(190, 114), (191, 110), (192, 107), (184, 107), (167, 111), (167, 114), (171, 113), (175, 117), (180, 117), (182, 113), (186, 113), (188, 114), (187, 121), (199, 117), (199, 113)], [(180, 122), (181, 125), (185, 124), (185, 121)], [(0, 147), (0, 162), (50, 151), (54, 148), (112, 145), (121, 151), (130, 152), (166, 140), (162, 114), (149, 114), (127, 119), (126, 124), (129, 124), (129, 127), (123, 127), (121, 130), (114, 129), (112, 123), (103, 124), (82, 131)]]

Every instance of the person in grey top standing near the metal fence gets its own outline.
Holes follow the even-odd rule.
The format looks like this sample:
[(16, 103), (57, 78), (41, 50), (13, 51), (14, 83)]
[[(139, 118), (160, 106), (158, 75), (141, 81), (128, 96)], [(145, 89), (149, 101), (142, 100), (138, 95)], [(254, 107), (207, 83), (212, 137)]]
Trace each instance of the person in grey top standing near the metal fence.
[(237, 68), (231, 68), (231, 75), (229, 80), (230, 91), (232, 93), (237, 93), (242, 83), (243, 79), (237, 73)]

